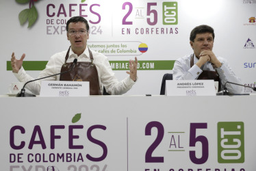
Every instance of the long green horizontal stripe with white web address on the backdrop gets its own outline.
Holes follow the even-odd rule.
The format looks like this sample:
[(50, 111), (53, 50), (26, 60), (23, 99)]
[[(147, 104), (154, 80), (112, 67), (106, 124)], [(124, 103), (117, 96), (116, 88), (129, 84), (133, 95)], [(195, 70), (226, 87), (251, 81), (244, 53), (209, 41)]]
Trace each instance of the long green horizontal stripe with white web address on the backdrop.
[[(172, 70), (175, 60), (138, 61), (138, 70)], [(25, 70), (43, 70), (47, 61), (24, 61)], [(110, 61), (112, 70), (129, 70), (129, 61)], [(6, 70), (12, 70), (11, 62), (6, 64)]]

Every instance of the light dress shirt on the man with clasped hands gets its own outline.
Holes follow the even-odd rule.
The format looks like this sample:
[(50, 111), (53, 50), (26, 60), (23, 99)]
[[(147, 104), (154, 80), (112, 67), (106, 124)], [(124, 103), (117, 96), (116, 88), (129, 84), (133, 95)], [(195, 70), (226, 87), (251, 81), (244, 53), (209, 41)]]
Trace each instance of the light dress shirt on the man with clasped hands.
[[(201, 75), (203, 70), (212, 70), (218, 73), (222, 87), (225, 85), (227, 81), (242, 84), (240, 78), (235, 76), (233, 70), (229, 66), (227, 60), (222, 57), (217, 57), (217, 59), (222, 63), (220, 68), (214, 69), (210, 62), (205, 63), (201, 68), (196, 65), (196, 62), (199, 59), (194, 55), (194, 65), (190, 68), (190, 56), (186, 55), (185, 57), (180, 57), (175, 61), (175, 65), (173, 67), (173, 79), (175, 80), (194, 80)], [(241, 93), (242, 86), (235, 86), (234, 84), (227, 83), (226, 88), (231, 93)]]

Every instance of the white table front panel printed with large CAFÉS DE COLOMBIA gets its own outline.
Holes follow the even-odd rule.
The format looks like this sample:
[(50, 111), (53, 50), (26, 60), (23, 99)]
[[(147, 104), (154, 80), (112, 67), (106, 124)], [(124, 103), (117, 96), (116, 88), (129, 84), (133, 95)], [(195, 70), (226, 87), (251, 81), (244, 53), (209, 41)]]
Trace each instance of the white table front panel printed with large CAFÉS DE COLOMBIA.
[[(253, 106), (255, 100), (0, 98), (1, 170), (255, 171), (255, 109), (240, 107)], [(205, 103), (201, 110), (198, 103)]]

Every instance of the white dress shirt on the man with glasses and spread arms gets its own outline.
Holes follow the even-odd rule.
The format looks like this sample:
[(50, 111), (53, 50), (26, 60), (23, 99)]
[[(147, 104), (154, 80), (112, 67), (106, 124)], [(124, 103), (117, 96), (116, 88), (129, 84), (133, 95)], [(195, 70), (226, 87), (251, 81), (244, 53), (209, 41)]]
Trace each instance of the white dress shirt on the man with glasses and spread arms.
[[(51, 59), (47, 63), (46, 68), (42, 70), (42, 72), (40, 72), (38, 78), (60, 73), (62, 65), (65, 62), (67, 51), (68, 50), (60, 53), (55, 53), (53, 56), (51, 56)], [(135, 82), (129, 77), (129, 75), (122, 81), (118, 81), (110, 66), (110, 62), (107, 60), (107, 57), (105, 55), (96, 51), (92, 51), (92, 56), (94, 58), (93, 63), (95, 64), (98, 71), (99, 87), (101, 88), (101, 92), (103, 92), (103, 86), (105, 87), (106, 91), (112, 95), (125, 94), (128, 90), (131, 89)], [(75, 58), (77, 58), (77, 62), (91, 62), (88, 47), (86, 47), (84, 53), (79, 56), (77, 56), (77, 54), (75, 54), (71, 49), (68, 60), (66, 62), (73, 62)], [(21, 82), (27, 82), (34, 79), (25, 72), (23, 67), (21, 67), (18, 73), (14, 73), (14, 75)], [(42, 80), (59, 81), (60, 75), (56, 75), (54, 77), (49, 77)], [(34, 94), (40, 94), (40, 86), (40, 81), (34, 81), (28, 83), (26, 88)]]

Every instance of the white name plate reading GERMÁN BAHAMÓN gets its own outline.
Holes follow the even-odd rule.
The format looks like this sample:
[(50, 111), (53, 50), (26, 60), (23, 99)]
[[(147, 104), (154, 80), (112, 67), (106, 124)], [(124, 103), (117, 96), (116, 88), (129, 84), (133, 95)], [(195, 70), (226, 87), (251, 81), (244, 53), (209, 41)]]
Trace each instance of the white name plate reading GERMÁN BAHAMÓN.
[(42, 81), (40, 96), (90, 96), (88, 81)]

